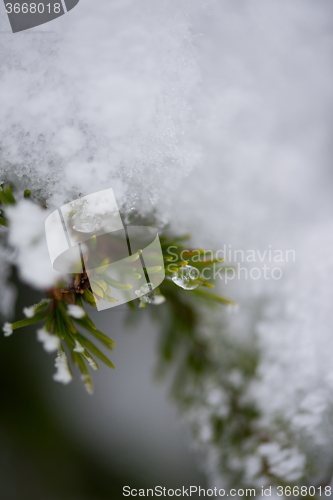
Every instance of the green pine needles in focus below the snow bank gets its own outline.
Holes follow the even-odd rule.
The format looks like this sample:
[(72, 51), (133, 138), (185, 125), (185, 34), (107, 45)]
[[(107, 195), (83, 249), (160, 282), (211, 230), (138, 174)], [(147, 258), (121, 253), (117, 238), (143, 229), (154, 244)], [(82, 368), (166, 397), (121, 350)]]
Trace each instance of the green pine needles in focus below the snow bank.
[[(30, 197), (30, 195), (31, 193), (29, 190), (24, 192), (24, 197)], [(7, 205), (16, 203), (13, 191), (8, 184), (0, 186), (0, 201), (4, 208)], [(2, 211), (0, 223), (8, 227), (5, 210)], [(174, 347), (173, 341), (175, 340), (174, 337), (177, 338), (179, 335), (179, 337), (182, 338), (182, 333), (177, 328), (178, 326), (181, 331), (184, 329), (187, 331), (189, 338), (191, 338), (192, 335), (192, 326), (194, 326), (193, 313), (189, 312), (189, 306), (183, 304), (181, 295), (191, 293), (196, 298), (203, 299), (208, 303), (217, 302), (224, 305), (234, 304), (234, 302), (229, 299), (205, 290), (207, 287), (214, 287), (214, 284), (210, 278), (201, 278), (200, 270), (203, 267), (206, 270), (209, 270), (212, 266), (219, 264), (222, 261), (221, 259), (216, 258), (206, 259), (206, 252), (202, 249), (186, 250), (183, 243), (188, 240), (189, 237), (189, 235), (180, 237), (169, 237), (165, 235), (161, 237), (166, 278), (160, 285), (159, 289), (155, 290), (154, 293), (162, 295), (162, 297), (166, 298), (167, 302), (170, 303), (169, 311), (170, 317), (172, 318), (172, 334), (171, 336), (169, 335), (170, 338), (167, 340), (164, 348), (166, 359), (172, 357), (172, 350)], [(93, 239), (90, 244), (94, 244)], [(170, 257), (170, 248), (172, 248), (173, 251), (172, 257)], [(133, 256), (133, 259), (134, 258), (137, 257)], [(186, 260), (184, 260), (184, 258), (186, 258)], [(181, 267), (186, 265), (191, 265), (198, 270), (199, 277), (197, 278), (195, 284), (203, 289), (197, 288), (187, 291), (181, 289), (173, 283), (171, 279), (173, 273), (177, 272)], [(225, 272), (228, 271), (227, 267), (223, 269)], [(155, 271), (158, 272), (160, 270), (160, 267), (156, 269), (145, 269), (145, 271), (148, 271), (149, 273), (153, 273)], [(96, 328), (95, 324), (84, 310), (83, 303), (86, 302), (91, 306), (96, 306), (95, 297), (97, 299), (101, 298), (114, 302), (115, 299), (112, 297), (111, 293), (112, 288), (126, 290), (126, 287), (129, 285), (117, 282), (107, 277), (103, 274), (103, 267), (100, 267), (99, 274), (94, 274), (89, 279), (85, 273), (83, 275), (79, 273), (74, 274), (72, 276), (72, 286), (63, 288), (64, 286), (65, 285), (59, 283), (52, 290), (49, 290), (48, 298), (42, 300), (39, 304), (25, 309), (26, 315), (29, 317), (13, 324), (6, 323), (4, 326), (4, 332), (5, 335), (8, 336), (12, 331), (19, 328), (42, 323), (42, 330), (46, 335), (58, 337), (58, 356), (67, 364), (69, 372), (71, 372), (69, 363), (70, 359), (72, 364), (79, 368), (81, 378), (84, 381), (88, 392), (92, 393), (93, 384), (89, 368), (98, 369), (96, 359), (99, 359), (110, 368), (114, 368), (114, 365), (110, 361), (109, 357), (100, 350), (100, 348), (96, 345), (96, 342), (100, 342), (103, 348), (108, 350), (112, 350), (115, 343), (107, 335), (100, 332)], [(128, 302), (128, 307), (132, 313), (134, 313), (138, 308), (146, 307), (146, 305), (151, 306), (151, 304), (147, 304), (144, 300), (142, 300), (142, 298)], [(73, 306), (76, 307), (74, 313)], [(152, 307), (152, 309), (155, 309), (155, 307)], [(81, 330), (89, 332), (92, 338), (89, 339), (83, 335)], [(197, 359), (198, 345), (195, 339), (192, 340), (193, 345), (190, 346), (189, 361), (197, 366), (198, 363), (200, 364), (200, 361)]]

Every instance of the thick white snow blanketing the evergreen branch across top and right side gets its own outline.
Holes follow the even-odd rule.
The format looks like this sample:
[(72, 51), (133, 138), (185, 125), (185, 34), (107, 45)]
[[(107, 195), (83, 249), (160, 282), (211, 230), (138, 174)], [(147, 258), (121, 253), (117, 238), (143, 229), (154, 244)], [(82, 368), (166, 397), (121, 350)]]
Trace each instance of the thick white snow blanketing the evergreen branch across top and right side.
[[(122, 211), (154, 213), (201, 247), (295, 251), (295, 262), (244, 263), (279, 267), (282, 277), (221, 283), (239, 308), (203, 320), (217, 325), (214, 352), (222, 352), (222, 323), (260, 351), (246, 397), (276, 441), (272, 471), (290, 481), (302, 474), (303, 452), (331, 453), (331, 11), (326, 0), (99, 0), (98, 9), (81, 0), (52, 25), (0, 37), (2, 178), (41, 190), (50, 210), (112, 187)], [(37, 288), (57, 276), (48, 213), (24, 200), (8, 212), (15, 263)], [(0, 252), (6, 280), (10, 258)], [(59, 356), (63, 381), (69, 372)], [(229, 411), (220, 377), (203, 381), (198, 405), (209, 410), (186, 417), (199, 428), (216, 484), (207, 422), (218, 401)], [(241, 387), (241, 373), (230, 383)], [(275, 425), (281, 415), (293, 447)], [(257, 454), (232, 463), (249, 481), (264, 481)]]

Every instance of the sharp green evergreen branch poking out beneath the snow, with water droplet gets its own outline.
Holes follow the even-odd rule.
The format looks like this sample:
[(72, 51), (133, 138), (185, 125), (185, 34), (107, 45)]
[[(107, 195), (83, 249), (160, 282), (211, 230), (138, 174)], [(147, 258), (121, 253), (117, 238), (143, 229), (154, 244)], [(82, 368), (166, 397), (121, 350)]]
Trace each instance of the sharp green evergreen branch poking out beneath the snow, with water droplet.
[[(31, 197), (30, 190), (25, 190), (23, 193), (24, 198)], [(12, 205), (16, 203), (15, 197), (13, 195), (13, 191), (11, 187), (6, 185), (0, 186), (0, 202), (5, 205)], [(74, 213), (72, 214), (74, 215)], [(2, 211), (0, 216), (0, 224), (6, 227), (9, 226), (8, 221), (6, 219), (5, 213)], [(173, 278), (174, 274), (182, 271), (182, 269), (186, 268), (189, 264), (196, 269), (200, 269), (201, 267), (211, 266), (217, 262), (221, 262), (221, 259), (211, 258), (210, 260), (206, 259), (206, 251), (202, 249), (197, 250), (187, 250), (183, 243), (190, 238), (189, 234), (177, 236), (177, 237), (167, 237), (161, 236), (161, 247), (163, 253), (164, 260), (164, 271), (166, 275), (169, 275)], [(89, 241), (89, 248), (97, 247), (97, 237), (91, 238)], [(174, 257), (170, 257), (169, 249), (172, 247), (173, 256), (176, 255), (176, 260)], [(184, 256), (186, 260), (184, 260)], [(203, 259), (199, 258), (195, 259), (195, 257), (202, 256)], [(133, 254), (128, 258), (127, 262), (136, 262), (140, 257), (140, 252)], [(91, 306), (96, 307), (96, 300), (104, 299), (109, 302), (117, 302), (117, 299), (112, 297), (111, 289), (117, 290), (130, 290), (132, 289), (132, 285), (122, 283), (120, 281), (114, 280), (107, 274), (107, 269), (109, 266), (108, 259), (104, 259), (102, 265), (98, 267), (96, 273), (88, 276), (86, 273), (83, 274), (74, 274), (73, 282), (70, 286), (66, 286), (64, 288), (60, 288), (60, 286), (55, 286), (53, 289), (49, 290), (48, 296), (49, 298), (41, 300), (38, 304), (35, 304), (32, 307), (24, 308), (24, 313), (27, 318), (17, 321), (13, 324), (6, 323), (4, 326), (5, 335), (10, 335), (13, 330), (23, 328), (25, 326), (33, 325), (39, 322), (44, 321), (44, 325), (42, 327), (41, 332), (41, 341), (45, 342), (45, 349), (52, 348), (56, 345), (54, 338), (59, 338), (59, 351), (58, 358), (56, 362), (56, 366), (58, 366), (58, 370), (63, 369), (62, 374), (56, 374), (55, 379), (59, 381), (66, 381), (67, 383), (71, 377), (70, 368), (68, 364), (68, 359), (64, 350), (64, 347), (61, 341), (65, 342), (70, 353), (71, 359), (74, 364), (76, 364), (81, 372), (81, 377), (85, 383), (85, 386), (89, 392), (92, 392), (92, 380), (89, 374), (88, 365), (97, 369), (97, 363), (88, 352), (91, 351), (95, 356), (101, 359), (107, 366), (110, 368), (114, 368), (113, 363), (108, 359), (107, 356), (88, 338), (82, 335), (77, 327), (81, 327), (87, 332), (89, 332), (94, 339), (101, 342), (104, 347), (109, 350), (113, 349), (115, 343), (111, 340), (107, 335), (99, 331), (94, 322), (89, 318), (87, 313), (83, 309), (83, 302), (88, 303)], [(145, 272), (148, 274), (158, 273), (162, 270), (160, 265), (153, 265), (149, 268), (145, 269)], [(126, 267), (126, 272), (128, 272), (133, 279), (140, 279), (141, 273), (137, 272), (136, 267), (129, 268)], [(169, 278), (170, 279), (170, 278)], [(193, 286), (203, 286), (203, 287), (213, 287), (214, 284), (209, 279), (204, 279), (198, 276), (196, 279), (192, 280), (191, 284)], [(170, 290), (169, 290), (170, 288)], [(166, 341), (164, 346), (164, 358), (172, 359), (174, 358), (177, 350), (177, 331), (181, 330), (183, 332), (187, 332), (186, 335), (189, 339), (191, 339), (191, 331), (194, 328), (196, 323), (195, 315), (189, 306), (186, 306), (185, 303), (180, 300), (180, 294), (186, 294), (190, 291), (193, 291), (195, 295), (199, 295), (204, 297), (206, 300), (211, 302), (219, 302), (222, 304), (234, 304), (233, 301), (225, 299), (223, 297), (219, 297), (215, 294), (208, 294), (202, 290), (189, 290), (188, 292), (183, 292), (177, 284), (173, 283), (171, 280), (165, 280), (162, 284), (162, 292), (165, 294), (167, 300), (170, 301), (171, 305), (171, 318), (173, 324), (173, 332), (172, 336), (169, 335), (169, 340)], [(165, 293), (164, 293), (165, 290)], [(192, 294), (191, 294), (192, 295)], [(129, 309), (134, 313), (137, 308), (135, 307), (135, 302), (139, 302), (140, 307), (145, 307), (150, 303), (162, 303), (164, 301), (163, 295), (160, 295), (159, 290), (151, 290), (147, 297), (140, 297), (140, 299), (136, 299), (135, 301), (128, 302)], [(158, 300), (155, 300), (155, 297)], [(175, 299), (176, 297), (176, 299)], [(180, 307), (181, 305), (181, 307)], [(75, 314), (71, 313), (71, 307), (78, 308), (75, 310)], [(73, 314), (73, 317), (72, 315)], [(52, 342), (48, 345), (49, 339)], [(193, 339), (192, 339), (193, 340)], [(171, 342), (171, 343), (170, 343)], [(196, 355), (194, 354), (197, 349), (197, 343), (195, 342), (193, 346), (191, 346), (191, 340), (189, 340), (190, 344), (189, 348), (189, 357), (187, 359), (187, 363), (190, 365), (197, 365)], [(88, 350), (87, 350), (88, 349)], [(194, 350), (193, 350), (194, 349)], [(68, 370), (67, 370), (68, 365)], [(59, 368), (60, 367), (60, 368)], [(67, 370), (67, 371), (66, 371)]]

